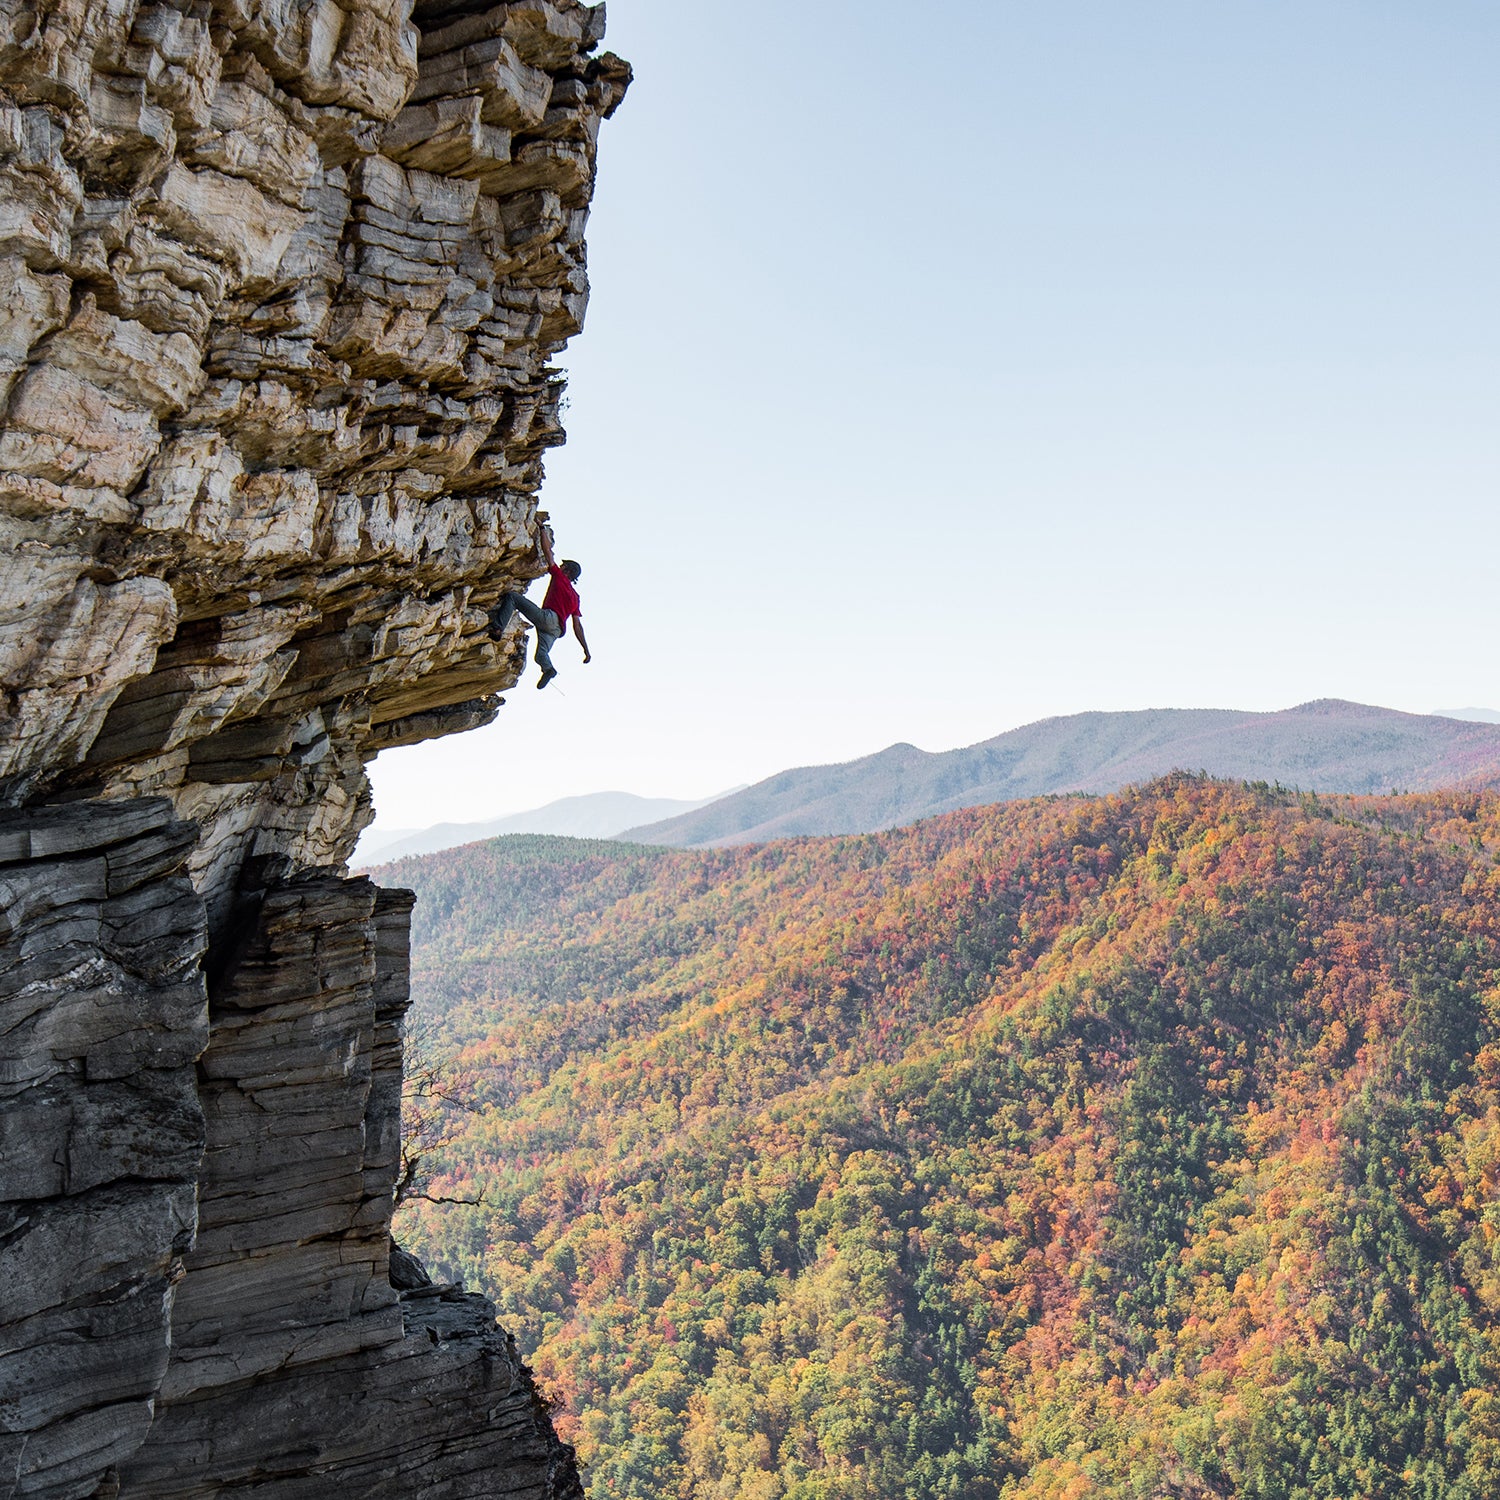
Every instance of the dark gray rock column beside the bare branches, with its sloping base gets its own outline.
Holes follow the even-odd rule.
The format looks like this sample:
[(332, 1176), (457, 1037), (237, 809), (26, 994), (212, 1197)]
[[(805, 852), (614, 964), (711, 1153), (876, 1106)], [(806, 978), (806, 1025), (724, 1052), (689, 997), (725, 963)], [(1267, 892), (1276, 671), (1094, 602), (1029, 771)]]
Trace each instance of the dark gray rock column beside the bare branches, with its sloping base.
[(120, 1500), (582, 1494), (494, 1306), (392, 1287), (411, 902), (273, 886), (213, 986), (198, 1242)]

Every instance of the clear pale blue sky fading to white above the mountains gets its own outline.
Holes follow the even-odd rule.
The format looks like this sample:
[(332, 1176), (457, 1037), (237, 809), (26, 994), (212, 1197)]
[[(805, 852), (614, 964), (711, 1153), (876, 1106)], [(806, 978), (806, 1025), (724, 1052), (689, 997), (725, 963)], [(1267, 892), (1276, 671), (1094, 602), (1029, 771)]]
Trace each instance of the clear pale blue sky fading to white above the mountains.
[(1494, 6), (612, 0), (608, 45), (543, 492), (594, 662), (381, 756), (381, 828), (1500, 704)]

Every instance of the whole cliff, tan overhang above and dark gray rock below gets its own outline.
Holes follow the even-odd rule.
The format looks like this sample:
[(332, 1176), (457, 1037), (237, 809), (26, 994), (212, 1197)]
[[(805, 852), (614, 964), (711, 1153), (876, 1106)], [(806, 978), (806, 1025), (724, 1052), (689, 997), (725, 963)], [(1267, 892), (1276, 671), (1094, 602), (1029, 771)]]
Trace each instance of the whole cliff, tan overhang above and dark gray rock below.
[(392, 1275), (410, 903), (345, 860), (519, 675), (603, 20), (0, 3), (0, 1497), (579, 1494)]

